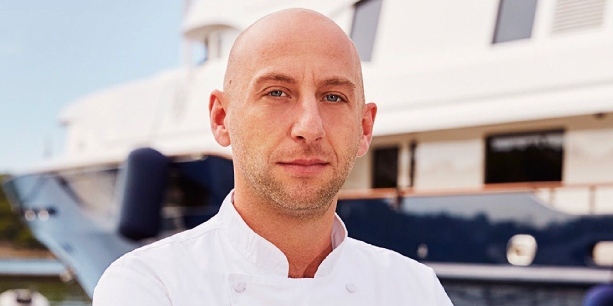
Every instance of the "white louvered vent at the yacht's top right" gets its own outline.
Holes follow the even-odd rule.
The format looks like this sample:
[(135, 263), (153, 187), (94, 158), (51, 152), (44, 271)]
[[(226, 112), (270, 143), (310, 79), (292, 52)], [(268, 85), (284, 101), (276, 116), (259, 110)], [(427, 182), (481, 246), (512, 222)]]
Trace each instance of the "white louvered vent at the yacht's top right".
[(607, 0), (557, 0), (552, 32), (601, 26), (606, 2)]

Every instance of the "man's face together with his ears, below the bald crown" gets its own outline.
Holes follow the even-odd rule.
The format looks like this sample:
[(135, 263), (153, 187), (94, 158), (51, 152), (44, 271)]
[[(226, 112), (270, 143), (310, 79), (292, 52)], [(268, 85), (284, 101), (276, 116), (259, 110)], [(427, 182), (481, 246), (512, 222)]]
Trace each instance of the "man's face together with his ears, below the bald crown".
[(281, 212), (316, 217), (365, 154), (376, 106), (364, 105), (350, 42), (282, 34), (272, 40), (259, 42), (226, 97), (235, 184), (248, 185)]

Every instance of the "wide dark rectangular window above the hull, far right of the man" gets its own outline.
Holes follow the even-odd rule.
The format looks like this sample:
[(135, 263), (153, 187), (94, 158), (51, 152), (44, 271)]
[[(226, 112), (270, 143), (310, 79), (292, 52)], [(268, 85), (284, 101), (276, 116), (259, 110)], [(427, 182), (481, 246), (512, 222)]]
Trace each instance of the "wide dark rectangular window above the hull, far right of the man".
[(562, 181), (563, 130), (487, 137), (485, 183)]

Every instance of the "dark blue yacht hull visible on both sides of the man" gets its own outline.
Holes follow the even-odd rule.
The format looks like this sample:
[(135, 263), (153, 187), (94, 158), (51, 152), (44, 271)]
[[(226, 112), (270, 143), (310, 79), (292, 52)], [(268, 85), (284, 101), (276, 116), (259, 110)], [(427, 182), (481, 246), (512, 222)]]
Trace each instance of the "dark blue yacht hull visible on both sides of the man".
[[(158, 236), (136, 241), (118, 233), (119, 209), (105, 212), (107, 220), (101, 222), (104, 215), (85, 205), (82, 196), (74, 190), (76, 185), (63, 174), (15, 177), (4, 188), (20, 214), (30, 214), (26, 223), (37, 239), (74, 271), (91, 296), (98, 278), (112, 261), (141, 245), (205, 222), (215, 215), (234, 185), (229, 160), (210, 157), (206, 161), (175, 162), (172, 166), (183, 177), (179, 181), (190, 180), (189, 188), (181, 187), (181, 190), (206, 190), (208, 204), (163, 207)], [(32, 212), (36, 218), (32, 218)], [(47, 212), (50, 217), (40, 218), (40, 212)], [(509, 284), (516, 289), (530, 288), (533, 283), (554, 286), (550, 288), (562, 286), (569, 288), (564, 292), (574, 294), (608, 280), (606, 267), (593, 263), (592, 248), (596, 242), (613, 241), (613, 215), (565, 214), (543, 206), (528, 192), (340, 200), (337, 213), (345, 222), (349, 236), (356, 239), (428, 264), (443, 265), (445, 269), (455, 269), (454, 264), (482, 265), (486, 276), (479, 276), (474, 269), (454, 274), (449, 271), (460, 270), (435, 268), (441, 271), (441, 280), (457, 305), (531, 305), (497, 304), (497, 298), (492, 295), (515, 292), (508, 288)], [(538, 273), (536, 277), (522, 278), (523, 272), (513, 278), (505, 277), (504, 272), (497, 275), (495, 269), (487, 266), (515, 269), (507, 261), (506, 250), (509, 239), (516, 234), (530, 234), (536, 239), (538, 250), (531, 267), (576, 268), (592, 273), (593, 277), (573, 282), (573, 277), (563, 277), (567, 274), (564, 271), (559, 279), (552, 274), (539, 278)], [(427, 252), (423, 252), (424, 247)], [(460, 294), (463, 289), (457, 288), (464, 288), (462, 284), (473, 284), (477, 288), (474, 290), (481, 290), (475, 295), (480, 297), (475, 299), (485, 304), (462, 304), (462, 299), (470, 300), (472, 296)], [(521, 300), (519, 295), (517, 299)]]

